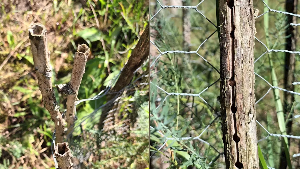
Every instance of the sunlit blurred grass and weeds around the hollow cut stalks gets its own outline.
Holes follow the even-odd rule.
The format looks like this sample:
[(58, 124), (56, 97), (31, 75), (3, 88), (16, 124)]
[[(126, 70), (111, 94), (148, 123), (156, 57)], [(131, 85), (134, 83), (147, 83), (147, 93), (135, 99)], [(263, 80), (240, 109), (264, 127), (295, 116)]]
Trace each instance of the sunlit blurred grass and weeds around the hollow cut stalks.
[[(148, 5), (147, 1), (134, 0), (0, 2), (0, 168), (54, 168), (50, 149), (54, 124), (38, 89), (28, 38), (29, 26), (40, 22), (47, 28), (53, 86), (70, 80), (77, 44), (85, 43), (91, 48), (78, 93), (79, 99), (86, 99), (104, 90), (125, 65), (148, 24)], [(147, 66), (143, 66), (137, 74), (147, 71)], [(149, 143), (148, 134), (145, 133), (147, 128), (138, 127), (149, 121), (149, 111), (144, 105), (149, 100), (145, 94), (147, 91), (147, 86), (136, 87), (134, 96), (128, 95), (121, 99), (119, 108), (122, 113), (128, 114), (132, 109), (140, 110), (137, 126), (132, 129), (130, 138), (114, 136), (115, 141), (119, 139), (120, 145), (113, 141), (111, 147), (107, 147), (116, 151), (114, 154), (101, 156), (100, 161), (97, 158), (100, 152), (93, 152), (95, 158), (81, 161), (81, 167), (148, 167), (149, 149), (145, 146)], [(136, 96), (139, 93), (143, 94), (142, 98)], [(62, 112), (66, 100), (57, 91), (56, 97)], [(102, 97), (80, 103), (77, 106), (78, 121), (105, 102), (105, 97)], [(76, 138), (84, 138), (82, 130), (87, 133), (96, 130), (94, 125), (98, 119), (91, 116), (82, 123), (81, 130), (77, 128), (74, 133)], [(86, 145), (87, 142), (93, 144), (93, 141), (90, 137), (69, 144), (76, 147)], [(135, 143), (137, 141), (139, 143)], [(90, 148), (85, 146), (84, 150)], [(77, 158), (76, 155), (79, 154), (73, 152)], [(102, 165), (107, 160), (112, 162)]]

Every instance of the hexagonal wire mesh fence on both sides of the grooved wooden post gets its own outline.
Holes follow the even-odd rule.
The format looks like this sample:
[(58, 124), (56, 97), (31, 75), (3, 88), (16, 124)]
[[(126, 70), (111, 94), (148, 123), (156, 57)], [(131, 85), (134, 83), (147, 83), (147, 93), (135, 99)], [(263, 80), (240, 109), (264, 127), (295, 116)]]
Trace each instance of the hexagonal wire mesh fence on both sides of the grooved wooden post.
[[(151, 161), (152, 166), (156, 168), (186, 167), (188, 165), (196, 168), (201, 166), (224, 168), (225, 166), (218, 97), (220, 93), (220, 52), (216, 33), (217, 24), (214, 24), (217, 22), (216, 4), (205, 0), (193, 3), (196, 2), (156, 0), (150, 3), (152, 15), (150, 19), (152, 30), (150, 41), (150, 134)], [(280, 73), (282, 71), (280, 66), (284, 67), (283, 63), (280, 63), (284, 62), (283, 54), (295, 54), (293, 57), (296, 58), (296, 62), (299, 60), (297, 57), (300, 52), (297, 46), (293, 51), (285, 49), (285, 40), (288, 36), (285, 36), (284, 30), (289, 25), (299, 25), (287, 23), (287, 15), (297, 18), (300, 15), (286, 12), (280, 8), (280, 5), (284, 5), (283, 2), (278, 2), (279, 5), (276, 3), (276, 8), (279, 10), (271, 9), (268, 2), (264, 0), (253, 1), (253, 4), (260, 11), (258, 20), (256, 20), (258, 33), (255, 37), (254, 55), (258, 144), (267, 161), (268, 168), (273, 168), (280, 165), (280, 153), (283, 148), (281, 141), (284, 141), (284, 138), (293, 139), (289, 144), (290, 153), (292, 153), (290, 156), (294, 158), (291, 161), (297, 168), (300, 142), (295, 140), (299, 141), (300, 137), (297, 131), (299, 123), (295, 120), (300, 117), (296, 115), (299, 113), (297, 104), (299, 100), (296, 96), (300, 93), (297, 86), (295, 87), (297, 90), (279, 87), (282, 84), (274, 83), (277, 81), (274, 74), (276, 72), (279, 74), (278, 77), (283, 78)], [(173, 11), (170, 10), (171, 8)], [(191, 18), (186, 18), (182, 14), (184, 10), (191, 10)], [(266, 23), (266, 19), (262, 20), (263, 16), (268, 13), (274, 14), (271, 17), (275, 18), (275, 26), (270, 26), (269, 29), (264, 25), (269, 24)], [(182, 25), (186, 19), (191, 22), (189, 30), (185, 30), (186, 28)], [(271, 31), (272, 29), (275, 31)], [(182, 36), (184, 31), (190, 31), (189, 46), (184, 46), (185, 39)], [(274, 39), (267, 39), (268, 41), (274, 40), (272, 42), (274, 48), (268, 47), (271, 43), (266, 45), (266, 42), (261, 40), (269, 37), (268, 31), (274, 35)], [(257, 38), (258, 36), (262, 38)], [(198, 45), (195, 45), (194, 42)], [(276, 60), (274, 64), (272, 61), (268, 62), (268, 59), (272, 60), (272, 57), (267, 57), (271, 53), (282, 53), (276, 55), (276, 59), (273, 58), (274, 62)], [(276, 71), (274, 67), (277, 68)], [(298, 78), (298, 72), (299, 69), (295, 67), (293, 72), (295, 79)], [(278, 81), (283, 80), (279, 79)], [(300, 83), (292, 81), (289, 85), (297, 84)], [(273, 91), (273, 96), (271, 91)], [(282, 107), (282, 103), (279, 103), (278, 99), (280, 100), (281, 97), (281, 100), (285, 101), (283, 99), (285, 93), (295, 96), (292, 108), (287, 113), (289, 115), (278, 112), (278, 105), (281, 104)], [(282, 116), (279, 117), (280, 113)], [(289, 118), (295, 121), (293, 130), (284, 133), (285, 124)], [(269, 140), (270, 137), (274, 137), (274, 139)], [(276, 146), (277, 149), (274, 148)]]

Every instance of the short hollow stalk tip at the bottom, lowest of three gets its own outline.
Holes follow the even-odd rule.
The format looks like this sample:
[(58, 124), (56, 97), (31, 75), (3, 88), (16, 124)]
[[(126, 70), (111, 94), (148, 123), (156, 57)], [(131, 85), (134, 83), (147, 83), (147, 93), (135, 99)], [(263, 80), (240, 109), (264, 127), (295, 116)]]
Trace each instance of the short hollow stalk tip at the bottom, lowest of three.
[(54, 147), (58, 169), (73, 169), (72, 158), (68, 143), (57, 143)]

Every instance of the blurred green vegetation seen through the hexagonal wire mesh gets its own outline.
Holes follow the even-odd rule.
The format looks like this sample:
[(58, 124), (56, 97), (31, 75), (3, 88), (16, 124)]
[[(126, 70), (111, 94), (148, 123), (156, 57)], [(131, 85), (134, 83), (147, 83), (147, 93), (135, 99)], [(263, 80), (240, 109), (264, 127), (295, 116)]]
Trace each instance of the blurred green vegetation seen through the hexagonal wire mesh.
[[(182, 1), (164, 0), (160, 1), (163, 5), (182, 5)], [(192, 1), (191, 6), (197, 5), (202, 1)], [(264, 4), (261, 0), (253, 1), (254, 7), (259, 9), (259, 15), (264, 11)], [(285, 1), (269, 1), (268, 5), (271, 9), (284, 11)], [(151, 17), (161, 8), (155, 1), (150, 2)], [(215, 1), (203, 1), (197, 8), (212, 23), (217, 25)], [(150, 21), (152, 29), (152, 41), (157, 45), (160, 51), (187, 51), (183, 46), (183, 10), (190, 10), (191, 22), (191, 43), (190, 51), (196, 51), (200, 44), (205, 41), (216, 28), (209, 23), (201, 14), (194, 9), (183, 8), (164, 8)], [(299, 7), (297, 11), (299, 10)], [(286, 15), (269, 12), (269, 46), (272, 49), (285, 49), (286, 35), (285, 29), (289, 23), (286, 23)], [(297, 18), (296, 23), (299, 20)], [(256, 20), (256, 37), (266, 44), (266, 36), (264, 29), (264, 17)], [(297, 38), (299, 37), (299, 27), (296, 27)], [(297, 41), (296, 51), (300, 50), (299, 41)], [(271, 49), (271, 48), (270, 48)], [(254, 57), (257, 59), (266, 51), (265, 47), (258, 41), (255, 41)], [(151, 45), (151, 63), (158, 57), (158, 50)], [(200, 48), (198, 54), (213, 65), (217, 70), (220, 69), (220, 50), (217, 32), (214, 33)], [(219, 73), (205, 60), (197, 54), (167, 53), (161, 57), (156, 66), (151, 70), (151, 94), (150, 109), (151, 121), (150, 125), (155, 128), (151, 129), (151, 160), (152, 167), (160, 168), (168, 166), (170, 168), (224, 168), (225, 160), (223, 155), (223, 134), (221, 130), (221, 119), (213, 121), (220, 111), (220, 103), (217, 97), (220, 94), (220, 82), (213, 84), (220, 77)], [(300, 79), (299, 61), (300, 57), (296, 54), (295, 63), (295, 79)], [(283, 87), (283, 66), (285, 61), (285, 53), (272, 53), (273, 68), (277, 75), (278, 87)], [(271, 83), (271, 66), (269, 64), (268, 54), (261, 57), (254, 65), (254, 71)], [(212, 86), (210, 86), (213, 84)], [(201, 97), (207, 102), (205, 103), (199, 97), (192, 96), (168, 96), (162, 88), (167, 92), (199, 94), (205, 88), (207, 90), (201, 93)], [(268, 90), (270, 86), (261, 78), (256, 76), (255, 97), (259, 100)], [(295, 86), (295, 92), (299, 92), (299, 87)], [(283, 102), (284, 92), (279, 91), (279, 96)], [(167, 97), (164, 103), (162, 101)], [(300, 98), (295, 95), (295, 103), (293, 105), (295, 115), (299, 114)], [(162, 104), (161, 104), (162, 103)], [(158, 105), (160, 105), (158, 107)], [(210, 105), (210, 106), (209, 106)], [(268, 128), (270, 133), (281, 134), (278, 125), (277, 113), (275, 109), (275, 101), (273, 92), (269, 92), (263, 100), (256, 105), (257, 120)], [(268, 116), (268, 120), (267, 120)], [(286, 116), (286, 115), (285, 115)], [(285, 117), (286, 119), (286, 117)], [(213, 122), (213, 123), (212, 123)], [(212, 123), (212, 124), (211, 124)], [(205, 130), (200, 139), (206, 141), (182, 140), (181, 142), (169, 140), (167, 146), (157, 151), (164, 143), (165, 139), (159, 130), (166, 137), (195, 137)], [(178, 126), (178, 130), (177, 130)], [(268, 133), (259, 125), (257, 125), (258, 140), (268, 136)], [(292, 133), (290, 135), (298, 136), (299, 122), (298, 119), (293, 120)], [(262, 165), (265, 163), (274, 168), (279, 168), (281, 154), (282, 137), (268, 137), (268, 139), (259, 142), (260, 158)], [(192, 146), (192, 147), (190, 147)], [(213, 146), (217, 151), (215, 151)], [(172, 148), (173, 147), (173, 148)], [(187, 148), (189, 147), (189, 148)], [(176, 149), (174, 149), (176, 148)], [(185, 149), (186, 151), (182, 151)], [(194, 152), (188, 152), (188, 150)], [(299, 153), (299, 140), (290, 139), (289, 148), (290, 158), (293, 168), (300, 167), (297, 158), (292, 158), (293, 154)], [(197, 157), (201, 160), (196, 161)], [(192, 159), (192, 160), (191, 160)], [(209, 164), (211, 162), (211, 164)], [(166, 164), (167, 163), (167, 164)], [(205, 164), (207, 166), (205, 166)], [(187, 167), (190, 165), (190, 167)]]

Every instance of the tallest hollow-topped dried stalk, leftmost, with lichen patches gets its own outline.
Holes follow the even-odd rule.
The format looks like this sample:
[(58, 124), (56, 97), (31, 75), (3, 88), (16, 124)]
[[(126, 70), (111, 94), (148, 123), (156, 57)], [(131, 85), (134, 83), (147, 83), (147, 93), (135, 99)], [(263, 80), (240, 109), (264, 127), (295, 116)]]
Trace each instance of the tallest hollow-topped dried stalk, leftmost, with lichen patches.
[(52, 66), (50, 64), (50, 51), (48, 51), (46, 33), (47, 29), (40, 23), (29, 27), (29, 39), (38, 85), (46, 109), (55, 123), (56, 142), (61, 143), (64, 137), (64, 124), (59, 112), (59, 106), (52, 89)]

